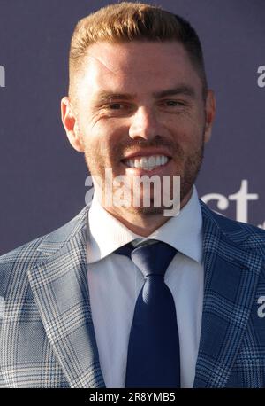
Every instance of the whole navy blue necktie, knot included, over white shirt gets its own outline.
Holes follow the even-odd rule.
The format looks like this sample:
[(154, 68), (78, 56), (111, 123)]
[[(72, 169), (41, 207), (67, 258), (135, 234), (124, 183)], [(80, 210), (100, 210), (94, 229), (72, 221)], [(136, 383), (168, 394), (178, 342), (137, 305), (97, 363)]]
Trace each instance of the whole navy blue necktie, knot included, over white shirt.
[(177, 251), (158, 241), (134, 249), (127, 244), (116, 252), (131, 255), (145, 277), (134, 308), (125, 387), (180, 387), (176, 309), (163, 279)]

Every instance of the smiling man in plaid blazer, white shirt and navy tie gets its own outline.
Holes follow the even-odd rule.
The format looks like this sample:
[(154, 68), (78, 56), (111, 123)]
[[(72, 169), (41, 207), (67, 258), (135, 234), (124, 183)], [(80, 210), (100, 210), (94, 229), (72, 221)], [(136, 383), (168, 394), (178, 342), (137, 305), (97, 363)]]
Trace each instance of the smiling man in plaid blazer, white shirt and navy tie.
[[(0, 260), (1, 387), (265, 386), (264, 231), (193, 187), (215, 106), (185, 20), (121, 3), (79, 21), (62, 121), (95, 196)], [(169, 178), (172, 204), (180, 176), (180, 213), (136, 176)]]

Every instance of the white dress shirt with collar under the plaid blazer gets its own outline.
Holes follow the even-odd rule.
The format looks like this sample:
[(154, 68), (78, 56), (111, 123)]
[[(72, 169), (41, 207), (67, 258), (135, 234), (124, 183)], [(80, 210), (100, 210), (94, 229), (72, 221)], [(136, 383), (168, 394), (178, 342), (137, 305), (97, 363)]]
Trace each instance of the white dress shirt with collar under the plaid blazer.
[[(125, 387), (129, 334), (144, 277), (133, 262), (113, 252), (143, 237), (110, 215), (94, 197), (88, 212), (87, 277), (95, 339), (106, 387)], [(197, 191), (179, 215), (148, 238), (178, 253), (165, 273), (173, 295), (179, 333), (181, 387), (193, 387), (201, 336), (203, 300), (202, 217)]]

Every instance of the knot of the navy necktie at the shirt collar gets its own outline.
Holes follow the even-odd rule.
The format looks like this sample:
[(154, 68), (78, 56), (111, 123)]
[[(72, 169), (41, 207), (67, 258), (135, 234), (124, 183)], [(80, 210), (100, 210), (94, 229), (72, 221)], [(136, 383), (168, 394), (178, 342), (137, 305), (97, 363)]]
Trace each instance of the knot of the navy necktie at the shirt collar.
[(177, 250), (157, 241), (154, 244), (143, 244), (133, 249), (132, 244), (127, 244), (117, 250), (117, 254), (130, 256), (134, 264), (141, 270), (144, 277), (152, 275), (164, 276)]

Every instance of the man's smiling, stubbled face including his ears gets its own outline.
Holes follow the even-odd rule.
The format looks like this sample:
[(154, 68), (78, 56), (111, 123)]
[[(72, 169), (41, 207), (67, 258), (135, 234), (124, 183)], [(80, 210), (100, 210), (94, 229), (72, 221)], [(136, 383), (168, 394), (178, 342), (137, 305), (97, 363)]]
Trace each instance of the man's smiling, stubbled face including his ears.
[[(214, 118), (213, 93), (184, 47), (174, 42), (95, 43), (77, 77), (75, 103), (62, 100), (64, 128), (92, 176), (181, 176), (181, 206), (191, 195)], [(95, 185), (96, 187), (96, 185)], [(98, 186), (99, 187), (99, 186)], [(153, 211), (152, 211), (153, 209)], [(157, 215), (157, 207), (109, 208), (119, 218)]]

